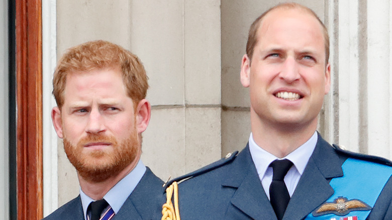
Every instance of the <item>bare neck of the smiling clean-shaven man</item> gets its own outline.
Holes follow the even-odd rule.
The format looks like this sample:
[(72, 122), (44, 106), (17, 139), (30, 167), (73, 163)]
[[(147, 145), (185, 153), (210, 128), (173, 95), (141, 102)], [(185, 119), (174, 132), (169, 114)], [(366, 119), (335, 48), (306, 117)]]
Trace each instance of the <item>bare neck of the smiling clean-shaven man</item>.
[(317, 118), (305, 126), (270, 125), (262, 120), (251, 120), (255, 143), (278, 158), (287, 156), (307, 142), (315, 133), (316, 128)]

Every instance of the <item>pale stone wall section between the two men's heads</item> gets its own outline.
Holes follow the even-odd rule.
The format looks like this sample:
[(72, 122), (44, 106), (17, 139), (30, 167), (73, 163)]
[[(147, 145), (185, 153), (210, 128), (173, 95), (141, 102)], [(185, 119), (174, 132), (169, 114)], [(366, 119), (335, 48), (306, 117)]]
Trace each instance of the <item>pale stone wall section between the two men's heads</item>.
[(134, 1), (131, 50), (150, 77), (143, 161), (162, 179), (221, 156), (220, 1)]

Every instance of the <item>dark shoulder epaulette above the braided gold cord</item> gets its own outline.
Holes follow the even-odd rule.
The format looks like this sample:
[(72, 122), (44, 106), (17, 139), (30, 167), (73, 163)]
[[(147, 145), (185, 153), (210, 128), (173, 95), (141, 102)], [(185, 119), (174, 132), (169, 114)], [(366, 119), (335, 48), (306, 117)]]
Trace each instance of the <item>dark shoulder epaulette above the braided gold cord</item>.
[(203, 173), (207, 173), (207, 172), (209, 172), (211, 170), (217, 169), (218, 167), (221, 167), (221, 166), (223, 166), (223, 165), (233, 161), (234, 158), (237, 156), (237, 154), (238, 154), (238, 151), (235, 151), (233, 153), (228, 153), (226, 155), (226, 157), (224, 157), (224, 158), (222, 158), (222, 159), (220, 159), (220, 160), (218, 160), (218, 161), (216, 161), (216, 162), (214, 162), (212, 164), (209, 164), (209, 165), (207, 165), (207, 166), (205, 166), (203, 168), (200, 168), (198, 170), (195, 170), (195, 171), (190, 172), (188, 174), (185, 174), (183, 176), (179, 176), (179, 177), (174, 178), (174, 179), (172, 179), (170, 181), (167, 181), (163, 185), (163, 188), (166, 189), (166, 187), (170, 186), (173, 182), (184, 181), (186, 179), (190, 179), (192, 177), (199, 176), (199, 175), (201, 175)]

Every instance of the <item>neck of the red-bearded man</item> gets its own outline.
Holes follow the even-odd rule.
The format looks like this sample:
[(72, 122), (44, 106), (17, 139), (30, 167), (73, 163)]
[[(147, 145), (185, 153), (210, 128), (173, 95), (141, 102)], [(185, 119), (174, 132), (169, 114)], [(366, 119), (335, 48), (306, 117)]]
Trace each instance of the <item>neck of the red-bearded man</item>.
[(108, 179), (100, 182), (91, 182), (85, 180), (79, 174), (77, 175), (79, 179), (79, 184), (81, 190), (84, 194), (88, 195), (90, 198), (94, 200), (103, 199), (106, 193), (109, 192), (110, 189), (113, 188), (120, 180), (122, 180), (126, 175), (128, 175), (139, 162), (140, 155), (132, 161), (127, 167), (125, 167), (120, 173), (117, 175), (111, 176)]

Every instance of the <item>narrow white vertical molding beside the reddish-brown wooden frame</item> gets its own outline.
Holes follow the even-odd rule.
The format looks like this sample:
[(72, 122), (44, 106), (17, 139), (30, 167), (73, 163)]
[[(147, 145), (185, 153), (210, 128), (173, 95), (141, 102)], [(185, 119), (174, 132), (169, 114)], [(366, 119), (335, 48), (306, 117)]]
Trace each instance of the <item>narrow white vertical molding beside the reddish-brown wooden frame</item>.
[(58, 206), (57, 135), (52, 126), (52, 77), (56, 66), (56, 0), (42, 1), (42, 99), (44, 216)]

